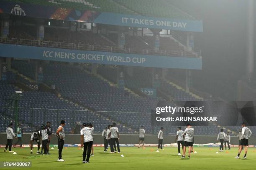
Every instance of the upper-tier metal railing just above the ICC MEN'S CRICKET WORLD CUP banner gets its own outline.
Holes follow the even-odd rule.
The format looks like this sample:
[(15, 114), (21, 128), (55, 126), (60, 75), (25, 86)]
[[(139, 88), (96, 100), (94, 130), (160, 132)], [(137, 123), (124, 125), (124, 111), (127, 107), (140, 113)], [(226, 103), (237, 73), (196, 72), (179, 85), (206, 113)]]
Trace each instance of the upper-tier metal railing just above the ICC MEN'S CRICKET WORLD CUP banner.
[(90, 45), (90, 44), (75, 44), (68, 42), (54, 42), (44, 40), (27, 40), (11, 37), (0, 37), (0, 43), (5, 44), (17, 44), (17, 45), (30, 45), (38, 47), (55, 47), (72, 50), (92, 50), (92, 51), (104, 51), (104, 52), (119, 52), (119, 53), (131, 53), (131, 54), (144, 54), (144, 55), (166, 55), (175, 57), (196, 57), (184, 50), (152, 50), (152, 49), (137, 49), (137, 48), (120, 48), (112, 46), (102, 45)]

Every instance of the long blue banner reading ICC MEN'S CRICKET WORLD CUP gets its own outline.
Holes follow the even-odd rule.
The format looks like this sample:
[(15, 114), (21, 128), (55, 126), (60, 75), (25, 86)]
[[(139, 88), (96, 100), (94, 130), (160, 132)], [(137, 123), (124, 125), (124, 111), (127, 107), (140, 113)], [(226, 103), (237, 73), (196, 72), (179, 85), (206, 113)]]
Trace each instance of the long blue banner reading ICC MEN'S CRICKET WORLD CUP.
[(202, 69), (202, 58), (200, 57), (171, 57), (162, 55), (82, 51), (1, 43), (0, 56), (62, 62), (84, 62), (109, 65), (166, 67), (195, 70)]

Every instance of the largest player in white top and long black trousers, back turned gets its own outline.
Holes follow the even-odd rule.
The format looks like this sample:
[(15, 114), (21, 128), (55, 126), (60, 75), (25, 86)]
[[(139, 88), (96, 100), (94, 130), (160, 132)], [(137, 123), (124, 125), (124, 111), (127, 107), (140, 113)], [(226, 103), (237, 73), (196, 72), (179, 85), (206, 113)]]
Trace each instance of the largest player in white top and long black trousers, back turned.
[(83, 163), (89, 163), (89, 160), (90, 160), (92, 144), (93, 144), (93, 130), (94, 128), (91, 123), (88, 123), (87, 126), (82, 128), (81, 130), (82, 131), (81, 147), (84, 147)]

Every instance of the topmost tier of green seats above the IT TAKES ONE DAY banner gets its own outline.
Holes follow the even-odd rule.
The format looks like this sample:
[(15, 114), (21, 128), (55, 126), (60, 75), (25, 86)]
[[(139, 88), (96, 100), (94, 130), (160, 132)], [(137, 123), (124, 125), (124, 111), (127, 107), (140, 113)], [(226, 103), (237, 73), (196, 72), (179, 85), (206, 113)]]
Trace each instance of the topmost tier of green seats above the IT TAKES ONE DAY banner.
[(75, 10), (94, 10), (107, 13), (142, 15), (179, 20), (195, 20), (167, 0), (7, 0), (42, 6), (65, 7)]

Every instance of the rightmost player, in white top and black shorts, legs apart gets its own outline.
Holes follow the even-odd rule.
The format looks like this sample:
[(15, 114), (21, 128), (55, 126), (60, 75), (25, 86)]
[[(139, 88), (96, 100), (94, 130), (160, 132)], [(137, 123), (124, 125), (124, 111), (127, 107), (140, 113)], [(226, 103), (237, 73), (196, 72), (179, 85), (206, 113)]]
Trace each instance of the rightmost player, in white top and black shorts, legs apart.
[(239, 151), (238, 151), (238, 155), (235, 157), (237, 159), (239, 159), (240, 154), (242, 152), (242, 147), (244, 146), (244, 159), (246, 159), (246, 154), (247, 154), (247, 147), (248, 147), (248, 138), (250, 138), (251, 136), (251, 130), (249, 128), (246, 127), (245, 123), (242, 123), (241, 125), (242, 128), (242, 140), (241, 140), (241, 145), (239, 147)]

